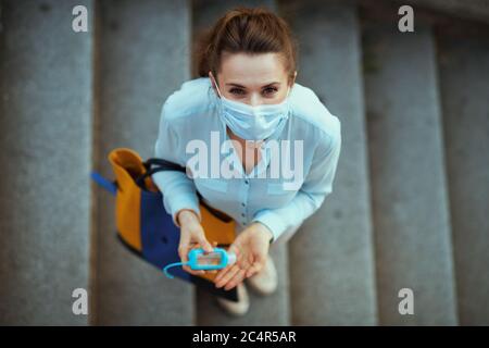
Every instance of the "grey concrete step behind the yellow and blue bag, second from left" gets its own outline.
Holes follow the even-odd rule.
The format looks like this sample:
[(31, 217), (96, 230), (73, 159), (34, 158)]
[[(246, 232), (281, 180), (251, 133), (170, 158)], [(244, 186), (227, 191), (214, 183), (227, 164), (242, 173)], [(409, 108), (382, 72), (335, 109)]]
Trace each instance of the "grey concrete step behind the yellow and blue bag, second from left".
[[(97, 12), (97, 139), (95, 167), (113, 177), (108, 153), (129, 147), (154, 157), (163, 102), (190, 67), (186, 1), (103, 1)], [(93, 324), (191, 325), (193, 288), (167, 279), (115, 237), (114, 200), (97, 190)]]

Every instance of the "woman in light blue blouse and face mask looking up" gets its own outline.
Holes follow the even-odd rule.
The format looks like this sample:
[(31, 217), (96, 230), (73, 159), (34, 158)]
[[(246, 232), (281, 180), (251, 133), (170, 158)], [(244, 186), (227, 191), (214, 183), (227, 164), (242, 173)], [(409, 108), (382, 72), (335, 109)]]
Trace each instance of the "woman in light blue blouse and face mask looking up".
[[(277, 273), (269, 246), (287, 241), (331, 192), (340, 122), (311, 89), (294, 83), (296, 46), (289, 27), (264, 9), (236, 9), (215, 23), (201, 47), (199, 75), (165, 101), (155, 157), (189, 167), (196, 160), (191, 149), (202, 144), (212, 149), (218, 140), (220, 151), (199, 157), (201, 163), (188, 176), (160, 172), (152, 177), (180, 227), (178, 252), (184, 262), (196, 246), (213, 248), (200, 224), (196, 188), (209, 206), (236, 221), (237, 237), (229, 251), (237, 262), (218, 272), (215, 285), (238, 287), (238, 302), (218, 302), (240, 315), (249, 308), (242, 282), (272, 294)], [(284, 140), (298, 146), (284, 149)], [(287, 162), (287, 153), (294, 162), (293, 172), (287, 172), (292, 181), (277, 170), (290, 169), (277, 165)], [(210, 177), (206, 169), (212, 165), (220, 175)]]

